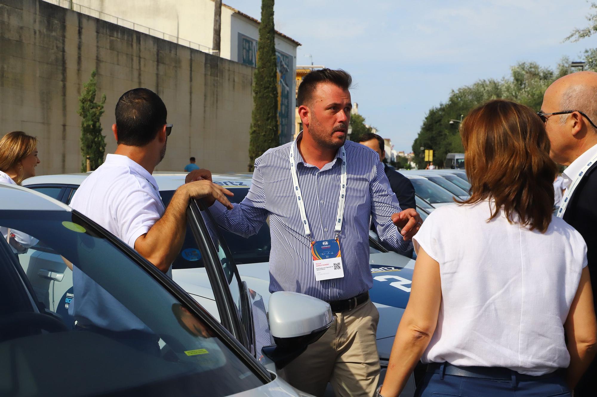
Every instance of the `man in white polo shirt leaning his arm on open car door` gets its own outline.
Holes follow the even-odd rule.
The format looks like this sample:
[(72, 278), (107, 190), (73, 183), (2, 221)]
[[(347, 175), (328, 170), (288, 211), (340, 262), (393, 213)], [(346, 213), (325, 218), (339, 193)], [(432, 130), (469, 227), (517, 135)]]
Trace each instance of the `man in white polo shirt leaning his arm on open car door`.
[[(73, 196), (70, 206), (96, 221), (147, 258), (164, 273), (180, 251), (186, 232), (186, 208), (190, 199), (211, 197), (227, 208), (232, 205), (229, 190), (214, 184), (211, 174), (204, 180), (180, 186), (168, 208), (162, 204), (153, 169), (164, 158), (171, 124), (159, 96), (147, 88), (122, 94), (116, 103), (116, 124), (112, 125), (118, 147), (106, 157)], [(149, 340), (152, 331), (118, 300), (73, 266), (75, 298), (69, 313), (77, 326), (107, 332), (124, 340)], [(116, 337), (118, 338), (118, 337)]]

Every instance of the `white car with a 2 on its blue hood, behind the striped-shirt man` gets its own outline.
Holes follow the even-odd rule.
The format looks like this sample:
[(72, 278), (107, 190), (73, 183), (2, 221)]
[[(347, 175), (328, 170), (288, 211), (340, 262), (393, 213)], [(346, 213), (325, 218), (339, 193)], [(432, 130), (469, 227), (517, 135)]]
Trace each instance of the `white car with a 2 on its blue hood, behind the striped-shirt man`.
[[(23, 186), (53, 196), (53, 198), (62, 201), (64, 204), (68, 204), (78, 186), (88, 175), (88, 173), (80, 173), (38, 176), (25, 180)], [(153, 173), (153, 176), (160, 188), (162, 201), (167, 205), (177, 187), (184, 183), (186, 173), (156, 172)], [(420, 179), (436, 186), (430, 181)], [(232, 202), (242, 201), (251, 186), (251, 177), (242, 174), (214, 174), (213, 180), (214, 183), (235, 193), (230, 200)], [(198, 205), (201, 205), (201, 202), (198, 201)], [(190, 222), (193, 221), (191, 216), (187, 218)], [(187, 236), (181, 252), (174, 260), (173, 279), (201, 306), (205, 307), (214, 317), (219, 318), (220, 313), (217, 310), (216, 299), (206, 274), (202, 259), (203, 254), (198, 250), (191, 229), (192, 224), (187, 229)], [(241, 238), (222, 229), (219, 229), (218, 233), (221, 234), (221, 238), (215, 245), (224, 267), (229, 264), (236, 267), (242, 284), (246, 283), (250, 290), (260, 294), (263, 298), (264, 307), (267, 308), (270, 297), (269, 227), (264, 225), (259, 233), (250, 238)], [(31, 256), (38, 255), (35, 251), (30, 251), (32, 251)], [(370, 238), (370, 251), (370, 266), (374, 277), (374, 285), (370, 290), (370, 296), (380, 312), (380, 322), (377, 328), (377, 349), (384, 373), (398, 323), (408, 302), (414, 260), (388, 252), (376, 242), (374, 236)], [(54, 258), (54, 260), (59, 260), (59, 258)], [(65, 288), (68, 285), (61, 286), (56, 294), (66, 293)], [(239, 289), (241, 287), (235, 288), (232, 294), (238, 296), (236, 291)], [(237, 300), (239, 299), (240, 297), (237, 297)], [(238, 302), (236, 303), (238, 304)], [(267, 313), (263, 313), (263, 315), (266, 316)], [(262, 346), (269, 343), (269, 339), (264, 331), (256, 331), (256, 334), (256, 351), (259, 352)], [(411, 377), (402, 396), (411, 396), (413, 393), (414, 378)]]

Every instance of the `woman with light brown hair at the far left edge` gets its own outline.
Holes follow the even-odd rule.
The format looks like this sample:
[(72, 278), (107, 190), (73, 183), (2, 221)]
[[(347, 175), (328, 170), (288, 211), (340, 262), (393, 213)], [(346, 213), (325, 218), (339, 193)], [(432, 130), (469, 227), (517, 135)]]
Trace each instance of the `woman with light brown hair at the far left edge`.
[(38, 164), (36, 137), (13, 131), (0, 139), (0, 183), (20, 185), (35, 176)]

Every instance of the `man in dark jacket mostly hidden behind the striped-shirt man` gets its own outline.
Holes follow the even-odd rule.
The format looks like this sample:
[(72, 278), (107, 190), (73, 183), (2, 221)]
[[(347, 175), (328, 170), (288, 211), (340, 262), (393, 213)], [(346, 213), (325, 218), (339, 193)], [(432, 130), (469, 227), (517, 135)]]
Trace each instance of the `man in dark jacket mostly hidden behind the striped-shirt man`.
[[(386, 157), (386, 150), (385, 150), (385, 143), (383, 138), (378, 136), (377, 134), (373, 133), (365, 133), (358, 137), (355, 140), (360, 144), (364, 144), (365, 146), (373, 149), (379, 155), (380, 161)], [(400, 208), (405, 210), (407, 208), (414, 208), (416, 209), (416, 201), (414, 198), (414, 187), (410, 180), (407, 177), (402, 175), (401, 173), (396, 172), (392, 168), (388, 167), (387, 164), (383, 164), (384, 172), (386, 173), (387, 180), (390, 182), (390, 187), (392, 188), (392, 192), (398, 198), (398, 203), (400, 204)], [(374, 228), (373, 228), (374, 229)], [(381, 243), (384, 245), (388, 250), (392, 250), (391, 247), (388, 247), (386, 244)], [(392, 250), (393, 251), (393, 250)], [(413, 250), (408, 251), (396, 251), (398, 254), (401, 254), (405, 257), (411, 258), (413, 257)]]

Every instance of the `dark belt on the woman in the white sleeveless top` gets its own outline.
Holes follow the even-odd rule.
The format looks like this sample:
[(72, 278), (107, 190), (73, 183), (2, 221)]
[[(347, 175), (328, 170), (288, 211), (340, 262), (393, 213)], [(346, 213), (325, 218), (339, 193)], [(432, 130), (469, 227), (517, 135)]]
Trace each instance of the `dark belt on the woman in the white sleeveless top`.
[[(442, 365), (444, 366), (443, 369)], [(440, 375), (466, 376), (469, 378), (493, 380), (512, 380), (512, 377), (515, 377), (518, 380), (539, 380), (562, 375), (561, 370), (556, 370), (552, 373), (540, 376), (533, 376), (521, 374), (503, 367), (458, 367), (458, 365), (452, 365), (448, 362), (432, 362), (427, 365), (427, 372)]]

